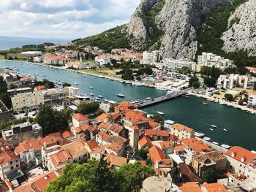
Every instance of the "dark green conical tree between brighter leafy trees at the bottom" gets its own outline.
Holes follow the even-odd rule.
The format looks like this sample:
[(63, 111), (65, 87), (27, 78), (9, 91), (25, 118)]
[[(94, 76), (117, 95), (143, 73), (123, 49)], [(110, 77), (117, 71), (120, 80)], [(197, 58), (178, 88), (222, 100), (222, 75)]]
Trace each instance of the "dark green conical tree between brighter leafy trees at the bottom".
[(115, 182), (117, 179), (113, 176), (113, 173), (108, 168), (108, 163), (102, 157), (96, 166), (95, 172), (90, 177), (89, 186), (94, 192), (119, 191)]

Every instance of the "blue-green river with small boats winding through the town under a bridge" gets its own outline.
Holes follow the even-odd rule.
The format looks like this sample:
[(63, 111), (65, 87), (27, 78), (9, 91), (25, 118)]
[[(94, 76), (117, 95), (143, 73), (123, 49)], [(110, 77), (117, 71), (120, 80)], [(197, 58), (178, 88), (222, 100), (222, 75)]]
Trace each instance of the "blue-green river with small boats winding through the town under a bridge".
[[(38, 80), (43, 78), (51, 81), (59, 79), (74, 86), (75, 82), (79, 82), (79, 88), (82, 93), (89, 95), (89, 93), (93, 92), (95, 96), (102, 95), (103, 98), (114, 101), (121, 101), (120, 98), (116, 97), (116, 94), (120, 93), (121, 90), (126, 96), (126, 100), (145, 99), (148, 96), (154, 98), (165, 94), (164, 91), (158, 91), (153, 88), (127, 85), (89, 75), (84, 77), (83, 74), (59, 69), (53, 71), (45, 66), (0, 61), (0, 68), (4, 67), (16, 67), (19, 69), (20, 75), (31, 74), (31, 77), (38, 73)], [(43, 75), (46, 75), (46, 77), (43, 77)], [(93, 86), (94, 89), (90, 89), (90, 86)], [(164, 112), (165, 120), (174, 120), (176, 123), (181, 123), (194, 128), (196, 131), (203, 132), (207, 137), (211, 137), (214, 142), (231, 146), (239, 145), (249, 150), (256, 150), (256, 115), (214, 102), (209, 102), (209, 105), (206, 106), (202, 104), (203, 100), (195, 96), (190, 96), (189, 98), (180, 97), (143, 108), (143, 110), (149, 114), (157, 113), (157, 111)], [(211, 124), (218, 127), (211, 131)], [(223, 128), (227, 129), (227, 131), (224, 131)]]

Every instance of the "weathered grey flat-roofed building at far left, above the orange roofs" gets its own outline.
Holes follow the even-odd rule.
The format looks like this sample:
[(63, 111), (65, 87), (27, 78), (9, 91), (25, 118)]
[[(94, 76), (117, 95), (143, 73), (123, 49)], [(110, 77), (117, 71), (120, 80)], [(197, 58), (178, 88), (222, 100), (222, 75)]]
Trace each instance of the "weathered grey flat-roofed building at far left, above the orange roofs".
[(20, 123), (12, 125), (11, 128), (1, 131), (3, 138), (7, 142), (12, 142), (17, 146), (20, 142), (26, 139), (38, 139), (42, 137), (42, 127), (37, 123)]

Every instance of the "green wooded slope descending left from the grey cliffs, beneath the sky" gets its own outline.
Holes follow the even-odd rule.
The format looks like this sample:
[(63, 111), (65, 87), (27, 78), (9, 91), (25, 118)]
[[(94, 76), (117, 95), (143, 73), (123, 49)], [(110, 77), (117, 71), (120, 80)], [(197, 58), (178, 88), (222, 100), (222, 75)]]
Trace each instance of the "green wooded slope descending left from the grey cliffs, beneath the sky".
[[(111, 28), (108, 31), (104, 31), (101, 34), (97, 34), (91, 37), (86, 37), (84, 39), (77, 39), (77, 46), (97, 46), (106, 52), (110, 52), (111, 49), (115, 48), (130, 48), (128, 35), (122, 31), (124, 26), (117, 26), (116, 28)], [(73, 41), (74, 42), (74, 41)]]

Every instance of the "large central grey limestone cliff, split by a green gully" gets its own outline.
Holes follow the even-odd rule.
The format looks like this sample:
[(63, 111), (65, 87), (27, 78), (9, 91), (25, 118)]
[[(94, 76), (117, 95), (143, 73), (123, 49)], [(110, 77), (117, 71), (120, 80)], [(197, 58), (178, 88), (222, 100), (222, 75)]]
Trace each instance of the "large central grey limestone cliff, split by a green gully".
[[(143, 20), (144, 12), (150, 10), (161, 0), (141, 0), (126, 30), (135, 49), (145, 49), (151, 41), (152, 31)], [(165, 0), (165, 5), (157, 14), (154, 23), (164, 31), (160, 42), (163, 57), (195, 58), (197, 52), (196, 31), (200, 27), (200, 17), (218, 4), (233, 0)], [(255, 0), (251, 0), (255, 1)]]

